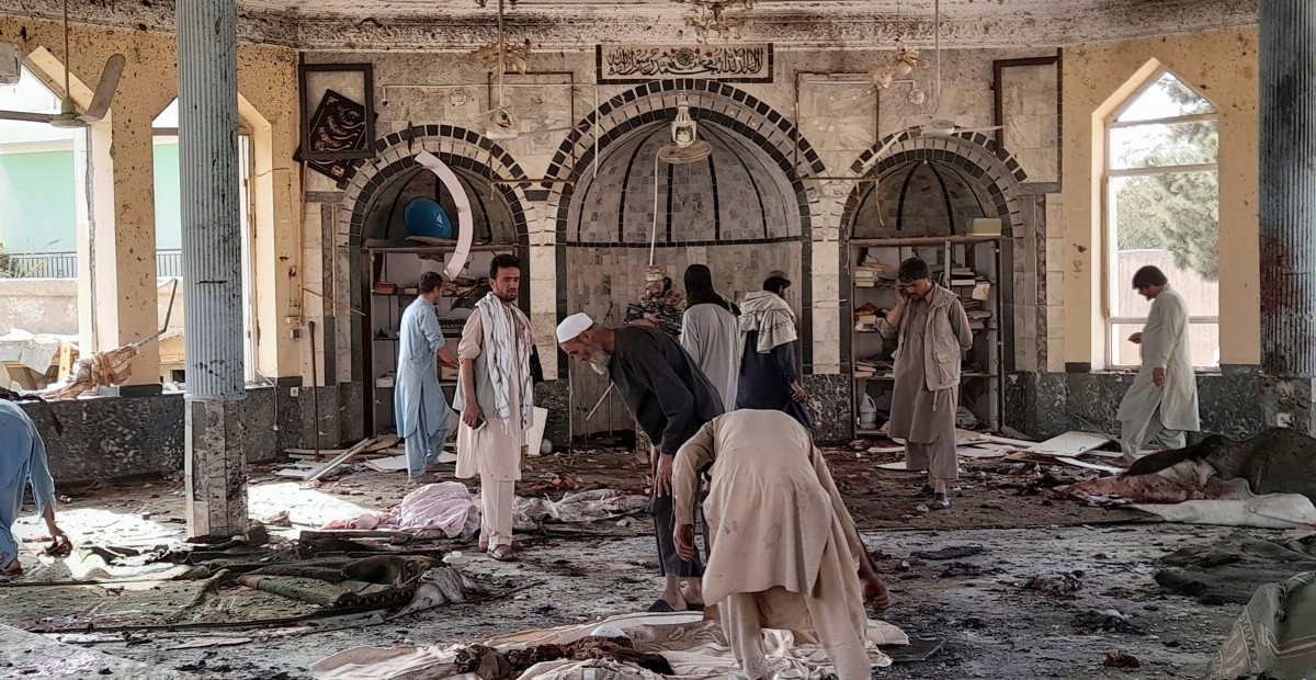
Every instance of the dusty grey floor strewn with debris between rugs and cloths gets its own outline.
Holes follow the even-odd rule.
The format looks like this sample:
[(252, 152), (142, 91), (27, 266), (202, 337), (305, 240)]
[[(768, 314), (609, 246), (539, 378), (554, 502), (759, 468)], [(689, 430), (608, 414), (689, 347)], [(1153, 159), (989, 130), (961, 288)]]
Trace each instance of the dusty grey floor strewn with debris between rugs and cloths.
[[(1165, 595), (1152, 580), (1155, 559), (1228, 530), (1150, 523), (1133, 512), (1083, 508), (1051, 498), (1045, 491), (1029, 491), (1026, 481), (1036, 479), (1034, 474), (980, 476), (973, 467), (966, 470), (950, 512), (921, 513), (909, 497), (920, 484), (917, 477), (874, 471), (871, 458), (851, 452), (838, 451), (830, 458), (833, 474), (891, 587), (894, 604), (884, 618), (911, 637), (946, 639), (932, 659), (896, 664), (876, 671), (875, 677), (1198, 677), (1237, 613), (1237, 606), (1207, 606)], [(622, 455), (587, 452), (532, 464), (534, 470), (520, 485), (522, 493), (554, 474), (574, 475), (586, 487), (644, 487), (642, 471)], [(343, 501), (384, 509), (404, 493), (397, 474), (353, 472), (320, 489), (297, 492), (297, 498), (286, 491), (287, 480), (272, 479), (268, 471), (253, 471), (253, 514), (293, 506), (293, 521), (308, 523), (350, 508), (340, 508)], [(66, 529), (75, 538), (143, 547), (180, 538), (182, 513), (176, 481), (89, 489), (61, 508)], [(25, 522), (17, 527), (20, 535), (39, 535), (36, 523), (28, 518)], [(522, 588), (515, 595), (396, 621), (366, 616), (259, 631), (203, 627), (126, 637), (86, 630), (89, 621), (158, 621), (162, 612), (193, 597), (197, 588), (147, 583), (125, 589), (5, 588), (0, 591), (0, 622), (28, 630), (76, 626), (82, 634), (51, 638), (196, 677), (274, 680), (311, 677), (308, 664), (351, 646), (478, 641), (525, 627), (641, 610), (657, 595), (647, 522), (549, 530), (553, 535), (520, 541), (525, 559), (519, 564), (476, 559), (465, 567), (495, 589)], [(980, 546), (982, 551), (951, 560), (911, 556), (912, 551), (955, 546)], [(1030, 576), (1055, 572), (1078, 575), (1082, 588), (1073, 597), (1057, 597), (1020, 587)], [(68, 575), (66, 567), (53, 566), (34, 570), (30, 580)], [(253, 602), (262, 616), (297, 613), (276, 596), (245, 597), (234, 609), (237, 600), (218, 598), (215, 609), (229, 609), (207, 612), (205, 619), (246, 619), (253, 612), (243, 608), (255, 606)], [(1079, 621), (1086, 613), (1107, 610), (1128, 617), (1136, 630), (1094, 633)], [(201, 644), (220, 646), (197, 647)], [(1103, 667), (1105, 655), (1115, 651), (1136, 656), (1141, 668)], [(0, 651), (0, 659), (4, 654)], [(22, 675), (21, 664), (5, 663), (12, 660), (0, 660), (0, 677), (30, 677)]]

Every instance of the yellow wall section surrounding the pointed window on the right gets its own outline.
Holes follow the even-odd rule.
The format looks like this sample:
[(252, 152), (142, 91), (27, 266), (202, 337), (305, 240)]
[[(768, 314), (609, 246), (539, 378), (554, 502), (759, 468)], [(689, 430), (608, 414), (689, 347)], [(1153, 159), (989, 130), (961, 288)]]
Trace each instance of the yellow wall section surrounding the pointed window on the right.
[(1063, 275), (1062, 354), (1071, 370), (1105, 366), (1104, 125), (1159, 67), (1207, 96), (1220, 121), (1220, 363), (1261, 360), (1257, 197), (1257, 32), (1204, 32), (1107, 45), (1063, 55), (1063, 225), (1048, 260)]

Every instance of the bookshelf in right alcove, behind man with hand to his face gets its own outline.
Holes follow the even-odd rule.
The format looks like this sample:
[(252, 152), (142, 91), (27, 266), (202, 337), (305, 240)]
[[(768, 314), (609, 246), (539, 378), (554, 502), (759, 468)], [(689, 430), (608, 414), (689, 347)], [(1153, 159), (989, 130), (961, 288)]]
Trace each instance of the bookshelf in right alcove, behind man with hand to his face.
[[(895, 278), (900, 263), (923, 258), (933, 280), (959, 296), (974, 334), (961, 364), (959, 405), (987, 427), (1000, 427), (1000, 235), (965, 234), (917, 238), (854, 238), (849, 242), (850, 368), (854, 376), (853, 424), (857, 435), (876, 434), (859, 422), (865, 395), (890, 413), (895, 389), (892, 352), (896, 339), (884, 339), (876, 322), (896, 304)], [(948, 271), (949, 270), (949, 271)]]

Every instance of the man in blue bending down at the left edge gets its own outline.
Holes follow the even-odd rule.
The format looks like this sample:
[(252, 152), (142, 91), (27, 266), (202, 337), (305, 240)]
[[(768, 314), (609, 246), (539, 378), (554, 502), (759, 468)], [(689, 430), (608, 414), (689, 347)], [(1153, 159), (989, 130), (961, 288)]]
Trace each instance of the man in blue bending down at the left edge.
[(32, 484), (37, 512), (58, 546), (67, 537), (55, 525), (55, 481), (46, 462), (46, 445), (32, 418), (17, 404), (0, 399), (0, 576), (22, 573), (13, 522), (22, 510), (22, 492)]

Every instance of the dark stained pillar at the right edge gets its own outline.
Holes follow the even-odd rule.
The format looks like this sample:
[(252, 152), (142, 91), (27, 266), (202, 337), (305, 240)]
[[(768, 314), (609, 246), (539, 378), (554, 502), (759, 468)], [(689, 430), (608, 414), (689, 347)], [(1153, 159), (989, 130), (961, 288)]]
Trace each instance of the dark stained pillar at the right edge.
[[(1261, 362), (1316, 376), (1316, 3), (1261, 3)], [(1223, 197), (1228, 200), (1228, 197)]]

